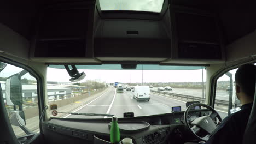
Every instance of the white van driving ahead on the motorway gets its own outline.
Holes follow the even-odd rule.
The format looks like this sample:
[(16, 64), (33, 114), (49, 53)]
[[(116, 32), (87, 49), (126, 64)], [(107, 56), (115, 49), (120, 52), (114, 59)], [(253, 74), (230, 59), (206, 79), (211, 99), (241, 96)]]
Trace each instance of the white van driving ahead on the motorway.
[(133, 98), (139, 100), (150, 100), (149, 86), (136, 86), (133, 91)]

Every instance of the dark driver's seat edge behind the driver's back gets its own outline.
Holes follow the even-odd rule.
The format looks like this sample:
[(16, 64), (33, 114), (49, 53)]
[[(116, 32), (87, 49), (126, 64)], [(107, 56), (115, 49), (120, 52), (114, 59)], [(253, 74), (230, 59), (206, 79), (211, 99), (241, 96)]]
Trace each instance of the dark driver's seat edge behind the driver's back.
[(248, 144), (248, 143), (256, 143), (256, 85), (255, 85), (252, 111), (248, 119), (245, 134), (243, 135), (243, 144)]

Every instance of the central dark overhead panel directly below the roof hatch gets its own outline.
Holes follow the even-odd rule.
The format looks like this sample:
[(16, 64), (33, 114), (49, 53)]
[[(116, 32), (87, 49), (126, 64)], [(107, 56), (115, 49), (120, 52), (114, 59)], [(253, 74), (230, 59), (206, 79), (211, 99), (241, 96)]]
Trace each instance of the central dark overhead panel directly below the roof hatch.
[(95, 57), (103, 61), (117, 61), (117, 57), (165, 59), (171, 54), (169, 35), (161, 21), (102, 20), (95, 35)]

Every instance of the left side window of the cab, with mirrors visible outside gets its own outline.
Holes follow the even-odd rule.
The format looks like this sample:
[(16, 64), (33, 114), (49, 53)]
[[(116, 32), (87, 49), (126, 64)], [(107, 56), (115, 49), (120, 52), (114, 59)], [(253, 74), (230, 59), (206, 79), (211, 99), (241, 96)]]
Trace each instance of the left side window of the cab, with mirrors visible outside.
[(37, 80), (25, 69), (0, 62), (0, 84), (17, 137), (39, 132)]

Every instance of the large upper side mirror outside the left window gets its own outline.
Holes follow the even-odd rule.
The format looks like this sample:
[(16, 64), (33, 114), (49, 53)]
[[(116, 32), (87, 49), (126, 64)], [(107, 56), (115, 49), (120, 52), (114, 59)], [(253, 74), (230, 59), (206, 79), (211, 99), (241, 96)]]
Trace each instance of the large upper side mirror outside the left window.
[(6, 79), (5, 98), (7, 105), (22, 105), (21, 75), (19, 73)]

